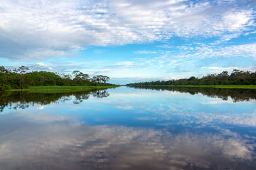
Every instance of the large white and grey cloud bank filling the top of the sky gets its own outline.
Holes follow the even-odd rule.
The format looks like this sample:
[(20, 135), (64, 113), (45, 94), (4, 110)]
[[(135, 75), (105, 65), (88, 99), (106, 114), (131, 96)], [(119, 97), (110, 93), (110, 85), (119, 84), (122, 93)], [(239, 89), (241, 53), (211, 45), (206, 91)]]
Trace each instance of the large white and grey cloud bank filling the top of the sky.
[(236, 35), (255, 27), (254, 6), (253, 1), (3, 0), (0, 57), (36, 60), (72, 55), (88, 45)]

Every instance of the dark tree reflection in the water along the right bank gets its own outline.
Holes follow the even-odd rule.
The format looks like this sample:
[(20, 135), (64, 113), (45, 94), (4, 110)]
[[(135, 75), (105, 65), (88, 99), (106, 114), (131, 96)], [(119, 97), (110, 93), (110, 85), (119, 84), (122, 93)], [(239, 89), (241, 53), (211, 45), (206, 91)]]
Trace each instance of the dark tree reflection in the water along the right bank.
[(169, 90), (172, 92), (189, 93), (191, 95), (203, 94), (208, 97), (218, 97), (224, 101), (228, 100), (228, 97), (232, 98), (234, 103), (239, 101), (256, 100), (256, 90), (253, 89), (216, 89), (216, 88), (195, 88), (195, 87), (132, 87), (135, 89), (150, 89), (150, 90)]

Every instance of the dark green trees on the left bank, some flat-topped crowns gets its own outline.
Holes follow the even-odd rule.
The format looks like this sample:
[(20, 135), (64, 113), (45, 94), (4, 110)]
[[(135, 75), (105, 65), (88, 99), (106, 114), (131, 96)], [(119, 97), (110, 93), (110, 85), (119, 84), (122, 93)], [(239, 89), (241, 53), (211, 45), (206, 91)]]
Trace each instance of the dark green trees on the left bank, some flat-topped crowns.
[[(70, 74), (59, 74), (48, 71), (31, 71), (26, 66), (17, 69), (6, 69), (0, 66), (0, 91), (8, 89), (26, 89), (29, 86), (76, 86), (76, 85), (111, 85), (108, 76), (97, 75), (90, 78), (81, 71)], [(74, 77), (74, 78), (72, 78)]]

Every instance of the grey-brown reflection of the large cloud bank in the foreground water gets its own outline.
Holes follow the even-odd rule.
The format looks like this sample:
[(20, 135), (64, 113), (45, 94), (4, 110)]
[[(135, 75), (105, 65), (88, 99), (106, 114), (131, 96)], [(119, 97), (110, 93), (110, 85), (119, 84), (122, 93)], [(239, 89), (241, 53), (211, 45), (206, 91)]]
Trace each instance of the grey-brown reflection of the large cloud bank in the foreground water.
[[(0, 169), (253, 169), (253, 144), (237, 134), (88, 126), (26, 113), (1, 118)], [(6, 123), (8, 120), (8, 123)], [(40, 122), (38, 122), (40, 120)], [(15, 161), (13, 161), (15, 160)], [(250, 164), (249, 164), (250, 163)]]

